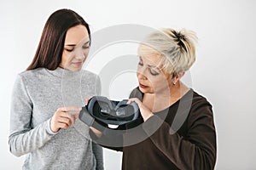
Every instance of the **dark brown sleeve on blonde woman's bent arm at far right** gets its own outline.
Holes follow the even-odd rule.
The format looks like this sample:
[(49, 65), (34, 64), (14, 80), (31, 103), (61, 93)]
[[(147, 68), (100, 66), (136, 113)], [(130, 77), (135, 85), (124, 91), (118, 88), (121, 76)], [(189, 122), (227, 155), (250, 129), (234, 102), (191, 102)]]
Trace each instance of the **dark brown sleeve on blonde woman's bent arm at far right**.
[(150, 136), (156, 147), (180, 169), (213, 169), (216, 161), (216, 132), (212, 105), (199, 102), (192, 105), (187, 123), (187, 133), (170, 133), (170, 124), (159, 116), (151, 116), (143, 123), (146, 133), (160, 127)]

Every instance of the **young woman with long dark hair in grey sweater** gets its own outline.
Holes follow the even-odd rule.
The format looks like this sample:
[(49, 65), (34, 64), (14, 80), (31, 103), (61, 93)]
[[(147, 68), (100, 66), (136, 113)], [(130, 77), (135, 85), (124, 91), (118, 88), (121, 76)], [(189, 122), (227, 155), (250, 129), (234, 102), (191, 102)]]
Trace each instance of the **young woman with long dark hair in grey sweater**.
[[(13, 88), (9, 149), (27, 154), (23, 169), (103, 169), (102, 147), (76, 120), (82, 105), (67, 102), (96, 95), (98, 77), (82, 70), (89, 48), (90, 28), (79, 14), (60, 9), (49, 16), (32, 64)], [(65, 97), (67, 91), (73, 93)]]

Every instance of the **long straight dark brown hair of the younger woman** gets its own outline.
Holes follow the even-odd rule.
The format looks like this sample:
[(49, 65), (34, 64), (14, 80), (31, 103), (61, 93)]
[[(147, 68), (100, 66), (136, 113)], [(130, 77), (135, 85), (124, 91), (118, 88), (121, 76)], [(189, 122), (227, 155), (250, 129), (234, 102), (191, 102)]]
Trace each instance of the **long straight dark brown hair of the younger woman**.
[(45, 23), (37, 52), (26, 70), (39, 67), (55, 70), (61, 63), (67, 30), (78, 25), (86, 27), (90, 38), (89, 25), (73, 10), (59, 9), (51, 14)]

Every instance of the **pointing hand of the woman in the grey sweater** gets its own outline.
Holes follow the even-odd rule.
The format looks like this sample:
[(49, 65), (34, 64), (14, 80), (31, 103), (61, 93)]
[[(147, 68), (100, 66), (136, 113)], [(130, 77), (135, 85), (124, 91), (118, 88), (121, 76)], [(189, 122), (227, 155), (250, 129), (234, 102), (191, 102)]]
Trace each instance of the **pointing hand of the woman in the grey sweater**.
[[(50, 129), (52, 132), (56, 133), (60, 128), (70, 127), (71, 124), (74, 124), (75, 119), (79, 117), (79, 111), (82, 108), (80, 107), (60, 107), (55, 111), (54, 116), (50, 120)], [(71, 114), (70, 111), (74, 111), (75, 114)]]

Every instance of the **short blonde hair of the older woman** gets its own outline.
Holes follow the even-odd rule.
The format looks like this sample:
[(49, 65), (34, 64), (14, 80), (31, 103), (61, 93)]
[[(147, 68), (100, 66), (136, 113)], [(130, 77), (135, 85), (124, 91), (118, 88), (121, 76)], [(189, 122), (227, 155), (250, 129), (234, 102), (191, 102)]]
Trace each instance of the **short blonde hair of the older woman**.
[(138, 48), (138, 54), (160, 54), (163, 56), (159, 65), (166, 73), (177, 76), (181, 71), (188, 71), (195, 62), (194, 31), (175, 31), (167, 28), (154, 31), (145, 38)]

